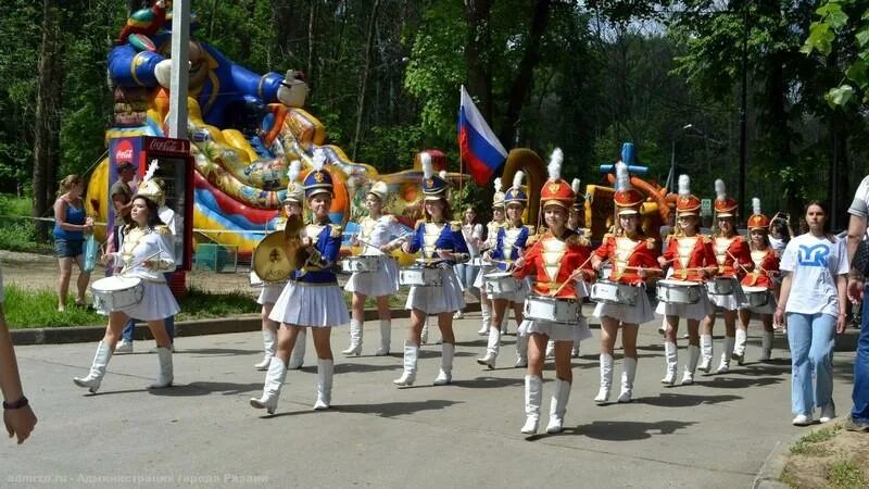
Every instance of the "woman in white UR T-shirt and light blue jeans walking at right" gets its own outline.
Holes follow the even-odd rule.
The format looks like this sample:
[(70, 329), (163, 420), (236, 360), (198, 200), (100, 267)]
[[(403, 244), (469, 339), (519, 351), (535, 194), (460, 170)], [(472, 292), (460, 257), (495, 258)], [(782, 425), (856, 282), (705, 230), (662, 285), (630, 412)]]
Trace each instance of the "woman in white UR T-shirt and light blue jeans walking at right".
[(830, 234), (827, 215), (827, 205), (818, 201), (806, 206), (808, 233), (784, 249), (781, 269), (788, 275), (772, 316), (776, 324), (788, 323), (796, 426), (810, 425), (816, 406), (821, 409), (821, 423), (835, 417), (833, 331), (845, 330), (848, 260), (845, 241)]

